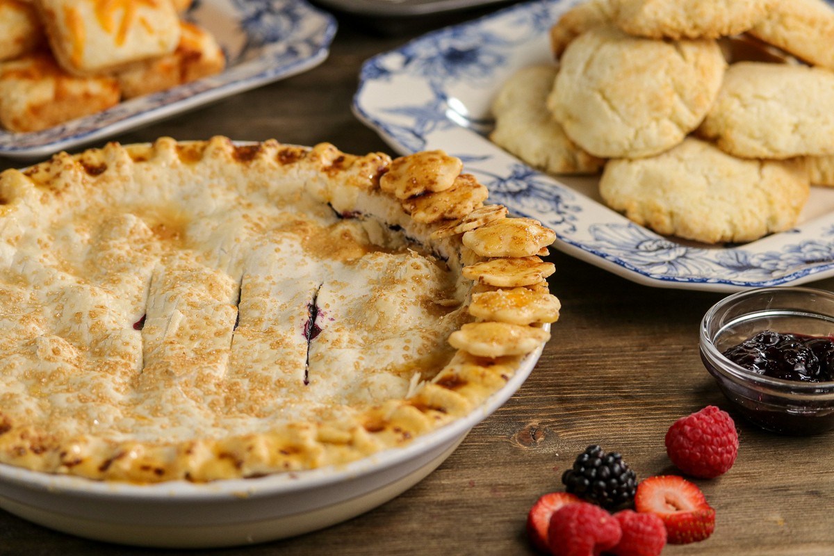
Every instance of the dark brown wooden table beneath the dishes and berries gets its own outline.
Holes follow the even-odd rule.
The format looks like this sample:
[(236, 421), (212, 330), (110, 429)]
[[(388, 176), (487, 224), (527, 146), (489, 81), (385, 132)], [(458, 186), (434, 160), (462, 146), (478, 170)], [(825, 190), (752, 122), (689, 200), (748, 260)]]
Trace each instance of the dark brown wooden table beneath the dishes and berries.
[[(440, 18), (437, 23), (446, 23)], [(119, 136), (123, 143), (215, 134), (327, 141), (350, 153), (394, 154), (350, 113), (360, 64), (425, 29), (379, 36), (339, 21), (329, 59), (307, 73)], [(3, 168), (18, 163), (0, 161)], [(675, 473), (663, 438), (678, 417), (708, 404), (731, 411), (740, 436), (729, 473), (697, 483), (717, 511), (716, 532), (665, 554), (834, 553), (834, 433), (789, 438), (732, 413), (701, 365), (698, 326), (723, 297), (649, 288), (553, 253), (550, 288), (561, 299), (553, 338), (519, 393), (470, 433), (434, 473), (393, 501), (334, 527), (275, 543), (212, 552), (268, 554), (533, 553), (525, 517), (562, 489), (577, 453), (599, 443), (624, 454), (638, 478)], [(834, 288), (834, 279), (811, 284)], [(0, 510), (3, 556), (173, 554), (96, 543)], [(187, 553), (187, 552), (183, 552)]]

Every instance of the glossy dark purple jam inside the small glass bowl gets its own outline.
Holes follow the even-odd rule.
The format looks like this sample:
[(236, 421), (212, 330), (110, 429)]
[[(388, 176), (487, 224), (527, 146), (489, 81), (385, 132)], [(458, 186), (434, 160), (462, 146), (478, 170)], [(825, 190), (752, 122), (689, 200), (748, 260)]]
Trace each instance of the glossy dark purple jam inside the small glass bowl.
[(754, 373), (805, 383), (834, 380), (834, 338), (765, 330), (724, 352)]

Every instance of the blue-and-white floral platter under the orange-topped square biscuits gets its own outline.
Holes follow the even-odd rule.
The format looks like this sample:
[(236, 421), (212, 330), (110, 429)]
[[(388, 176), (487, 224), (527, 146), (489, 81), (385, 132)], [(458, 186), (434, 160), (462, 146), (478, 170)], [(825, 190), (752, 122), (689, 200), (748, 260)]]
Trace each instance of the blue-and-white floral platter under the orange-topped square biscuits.
[(0, 130), (0, 156), (50, 155), (289, 78), (324, 62), (336, 33), (333, 16), (304, 0), (194, 0), (183, 18), (214, 34), (226, 56), (223, 73), (41, 132)]

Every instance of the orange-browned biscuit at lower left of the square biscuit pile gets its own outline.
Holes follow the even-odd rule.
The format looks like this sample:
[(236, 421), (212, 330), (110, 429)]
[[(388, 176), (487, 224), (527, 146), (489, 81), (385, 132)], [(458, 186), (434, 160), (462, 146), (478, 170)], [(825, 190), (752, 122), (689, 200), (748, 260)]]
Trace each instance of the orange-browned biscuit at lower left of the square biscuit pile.
[(51, 128), (110, 108), (118, 100), (115, 79), (70, 75), (48, 53), (0, 63), (0, 123), (10, 131)]

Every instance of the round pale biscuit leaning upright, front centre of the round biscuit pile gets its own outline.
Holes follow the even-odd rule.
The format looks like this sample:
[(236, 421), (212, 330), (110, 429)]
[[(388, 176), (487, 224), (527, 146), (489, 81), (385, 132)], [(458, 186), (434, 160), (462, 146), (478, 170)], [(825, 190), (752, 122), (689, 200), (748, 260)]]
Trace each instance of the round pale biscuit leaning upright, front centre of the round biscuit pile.
[(565, 49), (547, 107), (596, 157), (652, 156), (698, 127), (725, 68), (712, 39), (656, 41), (592, 28)]

